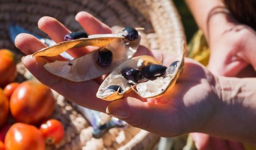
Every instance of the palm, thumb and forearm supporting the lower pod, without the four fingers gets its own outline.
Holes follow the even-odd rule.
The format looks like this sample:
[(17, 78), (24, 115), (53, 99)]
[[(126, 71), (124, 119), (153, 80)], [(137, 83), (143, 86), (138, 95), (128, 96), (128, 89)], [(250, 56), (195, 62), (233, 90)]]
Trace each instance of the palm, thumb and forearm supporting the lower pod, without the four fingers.
[(107, 112), (165, 137), (201, 132), (254, 142), (255, 83), (254, 78), (214, 76), (187, 59), (178, 82), (162, 97), (149, 102), (132, 97), (119, 99), (108, 106)]

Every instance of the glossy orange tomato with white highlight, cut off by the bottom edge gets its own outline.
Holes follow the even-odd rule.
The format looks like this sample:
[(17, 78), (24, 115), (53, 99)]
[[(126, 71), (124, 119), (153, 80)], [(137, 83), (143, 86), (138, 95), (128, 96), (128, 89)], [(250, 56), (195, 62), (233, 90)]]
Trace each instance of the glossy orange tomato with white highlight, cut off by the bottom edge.
[(25, 123), (14, 123), (5, 137), (6, 150), (43, 150), (45, 140), (40, 130)]

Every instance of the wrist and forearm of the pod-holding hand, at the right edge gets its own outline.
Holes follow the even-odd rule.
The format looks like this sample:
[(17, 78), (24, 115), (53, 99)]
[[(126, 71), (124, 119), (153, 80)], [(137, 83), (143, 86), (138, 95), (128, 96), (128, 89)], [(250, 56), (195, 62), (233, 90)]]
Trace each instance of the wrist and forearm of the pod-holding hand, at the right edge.
[(206, 133), (241, 141), (256, 141), (256, 78), (219, 77), (221, 99)]

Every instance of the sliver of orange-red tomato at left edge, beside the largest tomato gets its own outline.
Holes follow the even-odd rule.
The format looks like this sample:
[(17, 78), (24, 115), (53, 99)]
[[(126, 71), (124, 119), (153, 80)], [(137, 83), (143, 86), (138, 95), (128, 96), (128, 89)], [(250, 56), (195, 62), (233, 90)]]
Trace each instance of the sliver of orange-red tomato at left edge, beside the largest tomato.
[[(0, 76), (1, 77), (1, 76)], [(0, 128), (6, 123), (9, 114), (9, 101), (0, 88)]]

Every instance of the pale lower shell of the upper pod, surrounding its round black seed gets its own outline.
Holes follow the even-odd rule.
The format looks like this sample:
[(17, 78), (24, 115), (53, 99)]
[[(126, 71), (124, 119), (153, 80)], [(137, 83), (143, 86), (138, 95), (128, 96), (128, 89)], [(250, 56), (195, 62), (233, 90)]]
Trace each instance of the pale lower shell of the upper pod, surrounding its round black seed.
[[(106, 36), (110, 38), (110, 35)], [(102, 38), (104, 37), (96, 38), (92, 41), (98, 41)], [(76, 40), (73, 40), (73, 42), (74, 41)], [(79, 41), (83, 41), (86, 44), (88, 44), (88, 41), (84, 41), (82, 39)], [(56, 76), (61, 78), (68, 79), (70, 81), (89, 81), (97, 77), (100, 77), (105, 73), (111, 72), (118, 65), (122, 64), (127, 59), (130, 59), (134, 55), (134, 53), (136, 53), (139, 43), (140, 36), (137, 40), (129, 42), (123, 38), (119, 38), (119, 36), (114, 35), (112, 41), (109, 44), (104, 45), (102, 47), (109, 49), (113, 54), (113, 60), (109, 66), (102, 67), (97, 62), (98, 53), (101, 49), (98, 48), (87, 55), (75, 58), (71, 61), (54, 61), (51, 63), (47, 63), (46, 65), (44, 65), (44, 67), (52, 74), (55, 74)], [(98, 43), (96, 44), (99, 45)], [(84, 46), (84, 44), (82, 46)]]

